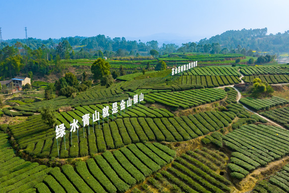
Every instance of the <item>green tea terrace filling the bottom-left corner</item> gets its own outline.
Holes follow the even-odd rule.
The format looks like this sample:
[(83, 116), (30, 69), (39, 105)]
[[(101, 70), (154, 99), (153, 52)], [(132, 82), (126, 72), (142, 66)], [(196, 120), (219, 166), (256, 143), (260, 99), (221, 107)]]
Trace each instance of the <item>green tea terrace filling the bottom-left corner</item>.
[(17, 157), (8, 138), (0, 132), (0, 193), (35, 192), (52, 168)]

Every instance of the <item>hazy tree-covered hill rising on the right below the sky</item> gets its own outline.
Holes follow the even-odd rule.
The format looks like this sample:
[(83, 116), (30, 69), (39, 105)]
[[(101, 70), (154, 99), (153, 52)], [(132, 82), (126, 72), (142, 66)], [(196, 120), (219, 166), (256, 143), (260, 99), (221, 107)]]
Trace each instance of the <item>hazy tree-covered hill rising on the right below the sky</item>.
[(201, 39), (198, 44), (218, 43), (228, 49), (242, 48), (267, 52), (289, 52), (289, 30), (273, 35), (267, 34), (267, 27), (263, 29), (228, 30), (210, 39)]

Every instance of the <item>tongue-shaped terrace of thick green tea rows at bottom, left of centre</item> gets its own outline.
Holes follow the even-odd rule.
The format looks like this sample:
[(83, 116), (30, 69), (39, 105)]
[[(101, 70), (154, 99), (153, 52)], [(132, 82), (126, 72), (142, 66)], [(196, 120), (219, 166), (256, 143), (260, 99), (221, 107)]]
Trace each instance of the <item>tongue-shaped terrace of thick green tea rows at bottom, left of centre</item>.
[[(173, 161), (175, 151), (159, 143), (137, 143), (55, 167), (37, 185), (39, 193), (123, 193)], [(50, 192), (50, 191), (49, 191)]]

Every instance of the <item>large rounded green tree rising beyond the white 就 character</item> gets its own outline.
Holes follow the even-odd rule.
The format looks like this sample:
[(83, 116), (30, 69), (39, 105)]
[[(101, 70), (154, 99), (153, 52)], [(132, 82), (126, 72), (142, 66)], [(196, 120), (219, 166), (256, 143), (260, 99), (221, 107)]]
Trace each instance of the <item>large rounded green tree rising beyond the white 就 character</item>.
[(98, 58), (91, 65), (94, 80), (100, 80), (105, 75), (110, 75), (110, 65), (102, 58)]

